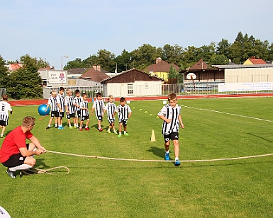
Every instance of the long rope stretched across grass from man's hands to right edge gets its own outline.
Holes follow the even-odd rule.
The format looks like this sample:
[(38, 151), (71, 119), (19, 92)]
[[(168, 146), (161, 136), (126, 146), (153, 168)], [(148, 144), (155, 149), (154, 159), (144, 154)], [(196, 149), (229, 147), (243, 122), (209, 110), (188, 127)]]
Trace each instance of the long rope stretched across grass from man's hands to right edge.
[[(165, 161), (165, 160), (140, 160), (140, 159), (117, 159), (113, 157), (105, 157), (105, 156), (94, 156), (94, 155), (82, 155), (82, 154), (69, 154), (63, 153), (58, 151), (48, 151), (49, 153), (53, 154), (64, 154), (69, 156), (81, 156), (81, 157), (88, 157), (88, 158), (96, 158), (96, 159), (106, 159), (106, 160), (113, 160), (113, 161), (139, 161), (139, 162), (175, 162), (175, 161)], [(233, 158), (225, 158), (225, 159), (203, 159), (203, 160), (179, 160), (180, 162), (208, 162), (208, 161), (234, 161), (238, 159), (251, 159), (257, 158), (262, 156), (273, 156), (273, 154), (260, 154), (260, 155), (253, 155), (253, 156), (240, 156), (240, 157), (233, 157)]]

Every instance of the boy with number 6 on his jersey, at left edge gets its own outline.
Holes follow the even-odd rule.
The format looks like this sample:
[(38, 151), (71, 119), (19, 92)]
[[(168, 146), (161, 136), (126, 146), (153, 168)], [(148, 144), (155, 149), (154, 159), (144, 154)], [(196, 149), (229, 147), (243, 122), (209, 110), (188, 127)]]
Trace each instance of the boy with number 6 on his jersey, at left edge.
[(11, 105), (8, 103), (9, 96), (3, 95), (2, 98), (3, 101), (1, 101), (0, 104), (0, 128), (3, 128), (0, 136), (1, 138), (4, 137), (4, 132), (6, 130), (6, 126), (8, 125), (9, 113), (12, 114)]

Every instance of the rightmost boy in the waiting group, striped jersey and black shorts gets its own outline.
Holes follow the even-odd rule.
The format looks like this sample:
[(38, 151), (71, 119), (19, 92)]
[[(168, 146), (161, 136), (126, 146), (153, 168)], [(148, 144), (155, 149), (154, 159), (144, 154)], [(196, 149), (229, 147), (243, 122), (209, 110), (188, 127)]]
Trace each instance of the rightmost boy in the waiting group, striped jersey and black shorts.
[(116, 113), (118, 113), (118, 122), (119, 122), (119, 127), (118, 127), (118, 137), (121, 137), (121, 129), (123, 126), (124, 134), (126, 136), (129, 136), (129, 134), (126, 132), (127, 131), (127, 120), (130, 118), (130, 115), (132, 114), (132, 110), (130, 110), (129, 105), (126, 105), (126, 99), (121, 97), (120, 105), (115, 110), (115, 113), (113, 113), (113, 117), (115, 117)]

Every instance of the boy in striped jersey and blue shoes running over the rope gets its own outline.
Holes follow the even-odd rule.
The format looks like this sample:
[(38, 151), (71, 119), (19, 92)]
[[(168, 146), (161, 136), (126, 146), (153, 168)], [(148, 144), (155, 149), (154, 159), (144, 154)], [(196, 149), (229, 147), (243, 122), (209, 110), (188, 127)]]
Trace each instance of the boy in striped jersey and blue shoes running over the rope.
[(169, 144), (172, 140), (175, 156), (174, 165), (179, 166), (179, 126), (184, 128), (184, 124), (181, 118), (181, 107), (177, 105), (177, 95), (175, 93), (169, 94), (168, 101), (169, 103), (158, 113), (158, 117), (163, 120), (162, 134), (165, 139), (165, 160), (169, 161)]

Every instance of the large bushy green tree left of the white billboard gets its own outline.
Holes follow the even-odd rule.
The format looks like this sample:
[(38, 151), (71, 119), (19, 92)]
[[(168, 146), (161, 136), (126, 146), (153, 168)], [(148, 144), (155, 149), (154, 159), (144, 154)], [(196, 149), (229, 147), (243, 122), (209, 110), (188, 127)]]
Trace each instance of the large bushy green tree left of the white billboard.
[(43, 66), (42, 59), (30, 57), (28, 54), (20, 58), (23, 67), (9, 76), (7, 93), (11, 98), (41, 98), (43, 96), (42, 79), (38, 69)]

